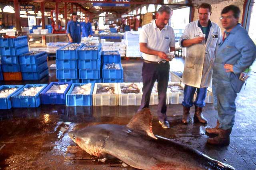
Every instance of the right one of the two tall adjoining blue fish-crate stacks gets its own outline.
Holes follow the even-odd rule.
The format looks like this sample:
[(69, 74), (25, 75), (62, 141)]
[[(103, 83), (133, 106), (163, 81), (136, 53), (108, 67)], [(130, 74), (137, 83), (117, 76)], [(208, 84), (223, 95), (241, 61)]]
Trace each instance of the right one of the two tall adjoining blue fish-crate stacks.
[(101, 82), (101, 44), (85, 44), (78, 50), (78, 72), (82, 83)]

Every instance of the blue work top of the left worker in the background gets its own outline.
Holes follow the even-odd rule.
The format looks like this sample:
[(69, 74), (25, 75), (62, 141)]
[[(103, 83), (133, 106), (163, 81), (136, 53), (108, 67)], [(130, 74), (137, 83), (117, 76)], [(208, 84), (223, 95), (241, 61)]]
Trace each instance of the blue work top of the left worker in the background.
[(67, 33), (71, 35), (73, 42), (81, 42), (81, 32), (80, 22), (74, 22), (73, 20), (68, 22)]

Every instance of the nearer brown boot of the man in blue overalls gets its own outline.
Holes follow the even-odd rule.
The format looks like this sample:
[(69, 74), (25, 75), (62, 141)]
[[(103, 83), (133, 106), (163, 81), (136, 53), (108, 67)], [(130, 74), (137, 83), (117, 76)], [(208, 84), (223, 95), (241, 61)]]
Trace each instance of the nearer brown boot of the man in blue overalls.
[(207, 140), (207, 143), (212, 144), (212, 145), (222, 145), (222, 146), (229, 145), (231, 130), (232, 130), (232, 128), (230, 128), (228, 130), (219, 128), (218, 136), (215, 138), (209, 138)]

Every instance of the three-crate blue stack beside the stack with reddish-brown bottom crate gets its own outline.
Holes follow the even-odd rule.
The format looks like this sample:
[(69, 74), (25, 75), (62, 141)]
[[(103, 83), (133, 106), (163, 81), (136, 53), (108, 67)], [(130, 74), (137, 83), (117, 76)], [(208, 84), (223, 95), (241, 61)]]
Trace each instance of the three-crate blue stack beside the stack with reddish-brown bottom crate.
[(46, 52), (31, 51), (19, 56), (23, 80), (41, 80), (48, 75)]

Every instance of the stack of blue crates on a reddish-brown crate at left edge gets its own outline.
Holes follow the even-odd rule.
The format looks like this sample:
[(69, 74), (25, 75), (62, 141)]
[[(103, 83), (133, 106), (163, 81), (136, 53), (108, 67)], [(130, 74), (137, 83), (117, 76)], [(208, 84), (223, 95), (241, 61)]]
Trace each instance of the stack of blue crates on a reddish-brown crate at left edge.
[(19, 55), (28, 52), (28, 37), (0, 38), (0, 55), (4, 80), (22, 80)]

